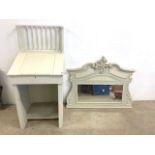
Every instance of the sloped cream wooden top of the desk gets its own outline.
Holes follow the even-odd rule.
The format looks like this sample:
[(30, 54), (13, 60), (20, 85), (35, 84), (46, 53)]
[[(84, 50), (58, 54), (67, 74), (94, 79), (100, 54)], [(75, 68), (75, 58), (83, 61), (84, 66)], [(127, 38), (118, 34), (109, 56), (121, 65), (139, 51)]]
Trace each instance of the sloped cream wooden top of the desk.
[(62, 75), (63, 70), (64, 54), (61, 52), (19, 52), (8, 75)]

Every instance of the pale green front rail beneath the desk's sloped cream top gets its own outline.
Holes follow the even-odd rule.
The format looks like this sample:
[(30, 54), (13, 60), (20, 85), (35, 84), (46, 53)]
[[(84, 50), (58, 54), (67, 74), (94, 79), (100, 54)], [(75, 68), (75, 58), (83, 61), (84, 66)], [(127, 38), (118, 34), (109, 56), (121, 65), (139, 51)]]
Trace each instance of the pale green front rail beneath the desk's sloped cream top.
[(62, 84), (62, 76), (10, 76), (13, 85), (22, 84)]

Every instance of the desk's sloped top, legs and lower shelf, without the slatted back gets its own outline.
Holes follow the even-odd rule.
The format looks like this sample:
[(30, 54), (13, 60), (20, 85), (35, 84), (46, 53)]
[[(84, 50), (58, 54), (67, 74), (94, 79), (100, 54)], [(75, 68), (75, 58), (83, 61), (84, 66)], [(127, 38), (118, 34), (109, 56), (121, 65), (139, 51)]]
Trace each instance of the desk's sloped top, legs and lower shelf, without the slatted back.
[[(28, 119), (52, 118), (58, 118), (59, 127), (62, 127), (63, 69), (64, 54), (58, 51), (24, 51), (17, 54), (8, 76), (14, 86), (15, 102), (21, 128), (25, 128)], [(49, 103), (40, 103), (37, 108), (35, 108), (36, 104), (32, 106), (27, 86), (52, 84), (58, 85), (58, 106), (57, 104), (51, 104), (51, 107)], [(57, 107), (58, 112), (56, 113)]]

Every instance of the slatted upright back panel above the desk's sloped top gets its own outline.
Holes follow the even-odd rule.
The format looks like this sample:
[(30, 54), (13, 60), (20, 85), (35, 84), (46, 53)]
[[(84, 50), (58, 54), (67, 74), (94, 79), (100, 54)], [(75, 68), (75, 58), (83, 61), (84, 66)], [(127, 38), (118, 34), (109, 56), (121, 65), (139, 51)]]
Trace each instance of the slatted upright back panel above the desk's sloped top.
[(63, 28), (58, 26), (17, 26), (21, 50), (63, 51)]

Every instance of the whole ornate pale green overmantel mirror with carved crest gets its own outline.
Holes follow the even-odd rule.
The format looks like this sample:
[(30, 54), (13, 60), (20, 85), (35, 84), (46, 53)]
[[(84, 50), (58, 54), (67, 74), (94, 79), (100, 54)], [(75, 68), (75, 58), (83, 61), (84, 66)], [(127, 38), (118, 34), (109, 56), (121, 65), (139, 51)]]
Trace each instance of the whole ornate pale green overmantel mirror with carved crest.
[(71, 89), (68, 108), (130, 108), (129, 83), (134, 71), (107, 63), (102, 57), (96, 63), (68, 70)]

